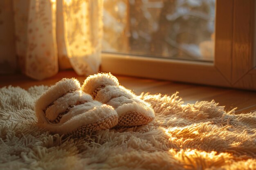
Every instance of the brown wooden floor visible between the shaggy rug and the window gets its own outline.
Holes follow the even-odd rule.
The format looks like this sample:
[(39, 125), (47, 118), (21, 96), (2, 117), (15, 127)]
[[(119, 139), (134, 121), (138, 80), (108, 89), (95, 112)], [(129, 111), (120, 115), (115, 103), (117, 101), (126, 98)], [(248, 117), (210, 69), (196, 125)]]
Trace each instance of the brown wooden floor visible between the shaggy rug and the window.
[[(184, 84), (178, 82), (161, 81), (155, 79), (144, 79), (137, 77), (127, 77), (115, 75), (119, 79), (121, 85), (130, 88), (140, 95), (141, 92), (150, 92), (152, 94), (162, 93), (171, 95), (176, 91), (180, 92), (179, 96), (186, 103), (195, 103), (196, 101), (211, 101), (214, 99), (222, 106), (226, 106), (226, 110), (237, 107), (236, 113), (247, 113), (256, 111), (256, 92), (234, 90), (229, 88), (218, 88), (211, 86), (202, 86), (195, 84)], [(42, 81), (36, 81), (26, 77), (25, 75), (1, 75), (0, 87), (4, 86), (20, 86), (29, 88), (34, 85), (52, 85), (62, 78), (76, 77), (82, 83), (85, 77), (78, 76), (74, 71), (62, 71), (54, 77)]]

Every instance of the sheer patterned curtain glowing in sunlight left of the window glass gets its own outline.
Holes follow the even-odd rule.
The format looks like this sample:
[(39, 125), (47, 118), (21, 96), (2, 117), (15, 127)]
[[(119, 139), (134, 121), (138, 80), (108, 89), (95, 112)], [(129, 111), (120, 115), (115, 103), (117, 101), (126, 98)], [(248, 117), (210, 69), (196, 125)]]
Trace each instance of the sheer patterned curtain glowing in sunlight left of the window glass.
[(20, 67), (34, 79), (73, 68), (96, 73), (101, 62), (103, 0), (1, 0), (0, 73)]

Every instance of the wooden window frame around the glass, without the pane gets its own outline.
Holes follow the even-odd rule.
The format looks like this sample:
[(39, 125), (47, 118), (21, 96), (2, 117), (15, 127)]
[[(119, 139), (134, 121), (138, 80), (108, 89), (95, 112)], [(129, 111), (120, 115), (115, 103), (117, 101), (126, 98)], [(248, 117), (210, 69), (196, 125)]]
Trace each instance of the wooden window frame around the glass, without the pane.
[(254, 0), (216, 0), (213, 62), (102, 53), (101, 71), (256, 90)]

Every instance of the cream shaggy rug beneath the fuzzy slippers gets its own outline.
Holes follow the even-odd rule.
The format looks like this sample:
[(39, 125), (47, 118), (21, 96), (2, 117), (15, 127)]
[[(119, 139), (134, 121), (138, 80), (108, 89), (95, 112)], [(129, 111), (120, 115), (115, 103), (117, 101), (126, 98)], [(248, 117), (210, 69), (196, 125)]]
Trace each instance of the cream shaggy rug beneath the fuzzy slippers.
[(63, 139), (36, 127), (34, 101), (46, 89), (0, 89), (1, 170), (256, 169), (256, 113), (142, 94), (155, 110), (150, 124)]

